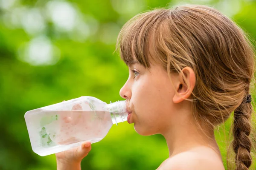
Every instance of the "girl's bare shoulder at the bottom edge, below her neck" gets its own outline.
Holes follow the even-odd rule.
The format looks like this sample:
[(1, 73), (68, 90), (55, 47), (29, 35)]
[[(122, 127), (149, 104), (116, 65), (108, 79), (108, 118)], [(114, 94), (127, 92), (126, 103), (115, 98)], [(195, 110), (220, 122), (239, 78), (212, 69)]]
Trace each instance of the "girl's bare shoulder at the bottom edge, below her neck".
[(166, 159), (157, 170), (225, 170), (217, 153), (200, 148)]

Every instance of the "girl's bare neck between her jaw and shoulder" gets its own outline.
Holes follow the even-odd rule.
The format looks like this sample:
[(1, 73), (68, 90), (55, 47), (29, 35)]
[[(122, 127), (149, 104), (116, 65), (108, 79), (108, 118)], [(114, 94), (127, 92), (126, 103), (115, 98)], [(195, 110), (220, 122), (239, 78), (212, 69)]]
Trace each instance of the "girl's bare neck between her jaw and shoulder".
[(169, 128), (169, 130), (166, 130), (166, 132), (162, 134), (169, 148), (169, 157), (202, 146), (210, 147), (220, 155), (213, 128), (202, 127), (204, 130), (200, 130), (198, 125), (191, 119), (182, 122), (182, 125)]

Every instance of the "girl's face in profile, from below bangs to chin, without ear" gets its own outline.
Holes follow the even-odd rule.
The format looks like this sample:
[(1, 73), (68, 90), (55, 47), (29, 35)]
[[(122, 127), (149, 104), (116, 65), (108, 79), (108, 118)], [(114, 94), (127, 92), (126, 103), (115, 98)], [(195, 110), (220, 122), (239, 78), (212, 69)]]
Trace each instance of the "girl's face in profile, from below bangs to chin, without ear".
[(139, 63), (129, 66), (128, 80), (120, 90), (120, 96), (130, 100), (130, 122), (140, 135), (163, 133), (167, 125), (172, 124), (174, 94), (162, 66), (152, 65), (146, 69)]

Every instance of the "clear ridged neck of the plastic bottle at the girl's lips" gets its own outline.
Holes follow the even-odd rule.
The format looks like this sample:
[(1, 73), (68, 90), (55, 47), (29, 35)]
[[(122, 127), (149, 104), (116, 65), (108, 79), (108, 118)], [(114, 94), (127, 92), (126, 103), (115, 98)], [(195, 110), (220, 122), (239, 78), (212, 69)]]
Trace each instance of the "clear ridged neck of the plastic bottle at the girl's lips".
[(111, 119), (113, 124), (120, 123), (127, 121), (127, 102), (124, 101), (118, 101), (118, 102), (110, 102), (107, 106), (107, 110), (111, 114)]

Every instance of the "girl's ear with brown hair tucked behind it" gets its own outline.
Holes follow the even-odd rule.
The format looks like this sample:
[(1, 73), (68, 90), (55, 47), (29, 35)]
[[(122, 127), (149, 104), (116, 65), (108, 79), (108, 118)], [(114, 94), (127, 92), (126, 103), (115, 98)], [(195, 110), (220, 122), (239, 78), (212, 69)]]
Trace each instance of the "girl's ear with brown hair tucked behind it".
[[(184, 79), (182, 77), (184, 74)], [(195, 72), (190, 67), (182, 69), (182, 73), (178, 75), (178, 79), (175, 82), (175, 95), (172, 98), (174, 103), (182, 102), (184, 99), (188, 99), (195, 87)]]

